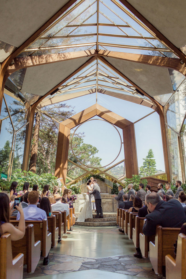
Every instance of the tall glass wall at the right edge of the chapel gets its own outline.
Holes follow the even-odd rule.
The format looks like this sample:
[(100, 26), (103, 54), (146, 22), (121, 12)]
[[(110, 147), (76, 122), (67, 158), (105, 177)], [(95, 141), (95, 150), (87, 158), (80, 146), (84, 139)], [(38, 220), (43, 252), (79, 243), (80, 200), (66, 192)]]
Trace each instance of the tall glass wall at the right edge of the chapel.
[[(183, 182), (185, 182), (185, 112), (186, 80), (177, 88), (164, 107), (171, 178)], [(182, 161), (183, 168), (181, 168)]]

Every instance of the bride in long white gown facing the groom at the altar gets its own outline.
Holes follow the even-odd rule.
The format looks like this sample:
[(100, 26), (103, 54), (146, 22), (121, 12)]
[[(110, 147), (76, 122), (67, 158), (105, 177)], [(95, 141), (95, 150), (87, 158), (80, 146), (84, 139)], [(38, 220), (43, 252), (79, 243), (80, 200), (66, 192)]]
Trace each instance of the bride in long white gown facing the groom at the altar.
[[(93, 185), (92, 187), (90, 186), (92, 184), (91, 180), (89, 179), (87, 182), (87, 190), (89, 191), (89, 193), (92, 191), (93, 189)], [(91, 195), (89, 195), (88, 193), (85, 196), (85, 203), (84, 206), (82, 208), (82, 211), (80, 212), (80, 215), (77, 219), (76, 222), (84, 222), (85, 219), (88, 218), (93, 218), (92, 217), (92, 202), (91, 202)]]

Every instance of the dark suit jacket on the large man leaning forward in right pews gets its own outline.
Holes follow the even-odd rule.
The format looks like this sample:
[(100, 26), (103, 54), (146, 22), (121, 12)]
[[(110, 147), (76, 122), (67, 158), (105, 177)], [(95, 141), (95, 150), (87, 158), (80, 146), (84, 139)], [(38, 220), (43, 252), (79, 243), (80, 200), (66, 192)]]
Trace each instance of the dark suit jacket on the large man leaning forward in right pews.
[(146, 236), (156, 234), (156, 226), (180, 228), (185, 223), (183, 206), (176, 199), (159, 201), (155, 210), (146, 216), (147, 221), (143, 225), (143, 233)]

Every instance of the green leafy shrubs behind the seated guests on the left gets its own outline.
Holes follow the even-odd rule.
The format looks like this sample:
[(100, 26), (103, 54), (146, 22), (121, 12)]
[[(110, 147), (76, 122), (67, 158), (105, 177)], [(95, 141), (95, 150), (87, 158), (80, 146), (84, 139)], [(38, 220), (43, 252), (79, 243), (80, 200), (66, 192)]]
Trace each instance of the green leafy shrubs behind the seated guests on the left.
[(33, 173), (31, 171), (21, 171), (21, 169), (16, 169), (16, 171), (11, 176), (10, 185), (13, 181), (17, 181), (17, 191), (20, 191), (23, 189), (23, 184), (25, 182), (29, 182), (30, 188), (33, 187), (34, 184), (37, 184), (39, 187), (39, 190), (43, 190), (43, 187), (45, 184), (50, 185), (49, 189), (51, 192), (53, 192), (54, 186), (58, 185), (57, 178), (50, 174), (50, 173), (43, 173), (41, 175), (37, 175), (36, 173)]

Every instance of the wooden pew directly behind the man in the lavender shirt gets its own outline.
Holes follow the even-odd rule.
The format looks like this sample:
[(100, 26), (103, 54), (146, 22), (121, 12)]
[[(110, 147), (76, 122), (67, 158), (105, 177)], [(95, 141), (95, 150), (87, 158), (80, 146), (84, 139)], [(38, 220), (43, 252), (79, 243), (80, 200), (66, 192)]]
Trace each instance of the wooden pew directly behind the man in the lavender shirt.
[[(11, 221), (10, 222), (15, 226), (18, 225), (19, 221)], [(41, 241), (41, 251), (42, 256), (47, 257), (48, 253), (51, 248), (51, 238), (52, 234), (51, 232), (48, 233), (47, 229), (47, 219), (44, 219), (42, 221), (25, 221), (25, 225), (33, 224), (34, 225), (34, 238), (35, 241), (40, 240)]]

